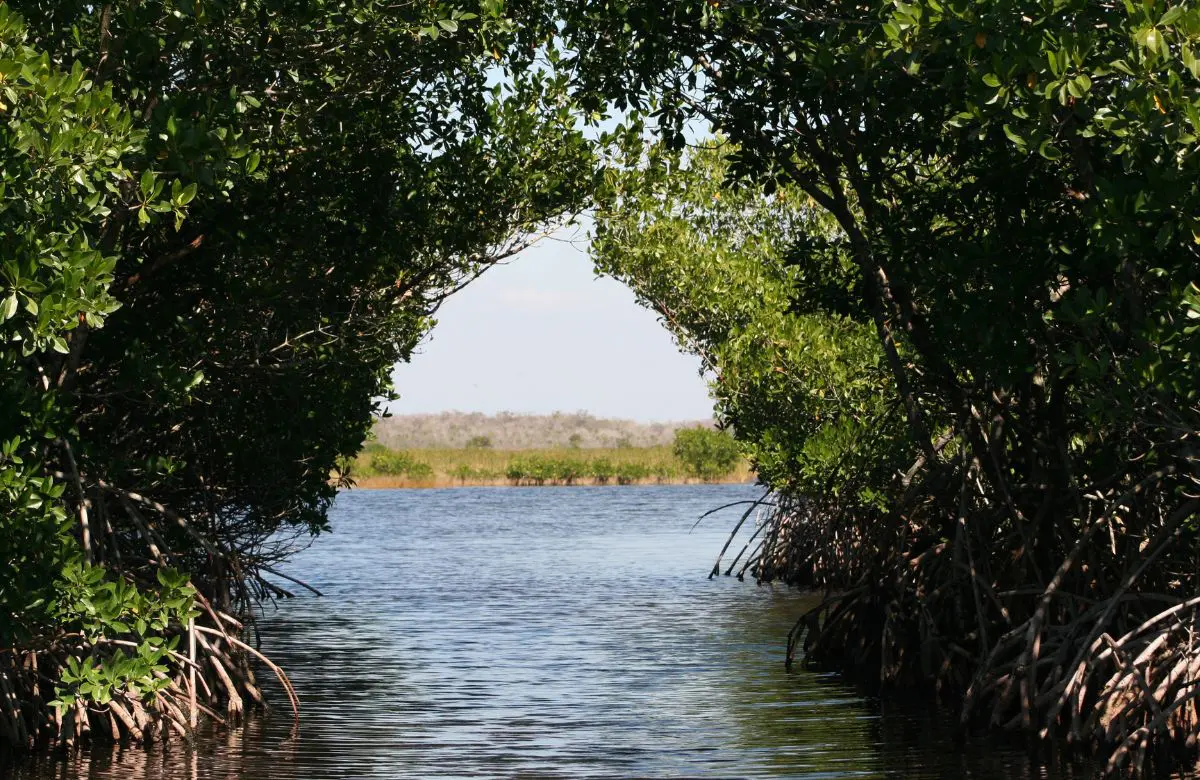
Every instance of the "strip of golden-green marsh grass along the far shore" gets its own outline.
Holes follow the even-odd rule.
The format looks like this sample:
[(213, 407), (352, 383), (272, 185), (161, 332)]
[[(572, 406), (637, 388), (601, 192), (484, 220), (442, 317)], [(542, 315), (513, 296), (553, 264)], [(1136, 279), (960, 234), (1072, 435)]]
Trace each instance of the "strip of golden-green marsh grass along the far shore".
[[(702, 481), (688, 474), (670, 446), (390, 450), (372, 443), (355, 458), (350, 475), (359, 487), (683, 485)], [(750, 466), (743, 461), (713, 481), (749, 482), (752, 479)]]

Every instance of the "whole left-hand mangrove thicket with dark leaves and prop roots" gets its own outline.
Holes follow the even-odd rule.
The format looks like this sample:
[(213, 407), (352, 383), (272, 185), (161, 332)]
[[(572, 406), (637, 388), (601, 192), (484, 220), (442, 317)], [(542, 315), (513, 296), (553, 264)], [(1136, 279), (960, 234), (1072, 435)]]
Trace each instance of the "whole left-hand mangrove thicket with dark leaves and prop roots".
[(0, 754), (298, 707), (252, 622), (330, 473), (592, 181), (502, 5), (0, 4)]

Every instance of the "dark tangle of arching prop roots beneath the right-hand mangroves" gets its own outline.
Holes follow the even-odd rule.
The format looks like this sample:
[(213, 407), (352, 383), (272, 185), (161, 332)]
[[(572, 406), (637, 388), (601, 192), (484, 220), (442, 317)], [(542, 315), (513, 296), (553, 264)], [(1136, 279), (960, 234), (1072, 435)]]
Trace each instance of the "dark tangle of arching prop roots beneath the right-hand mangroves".
[(1192, 469), (1166, 466), (1123, 488), (1074, 494), (1040, 520), (1014, 511), (1031, 503), (1019, 486), (989, 492), (967, 457), (925, 480), (924, 493), (906, 486), (917, 498), (892, 516), (838, 497), (775, 496), (742, 532), (742, 572), (828, 594), (790, 632), (788, 666), (803, 659), (883, 689), (941, 691), (964, 728), (1066, 743), (1098, 755), (1109, 775), (1195, 761)]

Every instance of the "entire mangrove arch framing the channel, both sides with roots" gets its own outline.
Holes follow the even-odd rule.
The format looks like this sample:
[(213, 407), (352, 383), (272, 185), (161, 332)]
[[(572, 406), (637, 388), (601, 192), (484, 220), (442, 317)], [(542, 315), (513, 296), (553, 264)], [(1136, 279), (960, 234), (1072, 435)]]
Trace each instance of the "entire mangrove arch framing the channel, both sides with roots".
[(1194, 752), (1198, 37), (1154, 0), (0, 7), (0, 733), (260, 697), (242, 624), (390, 366), (594, 204), (774, 493), (726, 570), (829, 594), (797, 653), (1114, 770)]

